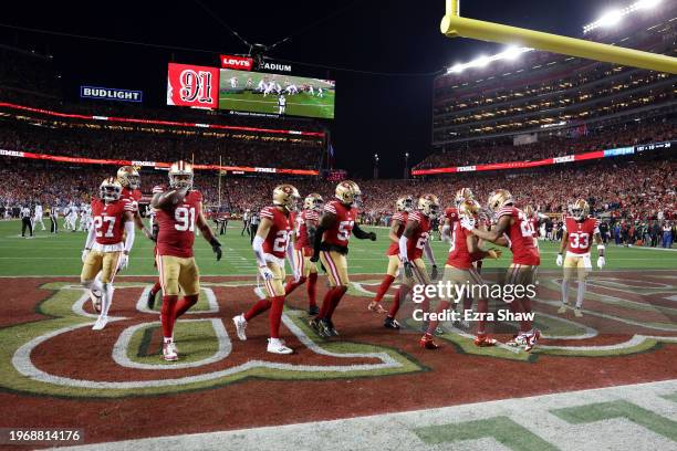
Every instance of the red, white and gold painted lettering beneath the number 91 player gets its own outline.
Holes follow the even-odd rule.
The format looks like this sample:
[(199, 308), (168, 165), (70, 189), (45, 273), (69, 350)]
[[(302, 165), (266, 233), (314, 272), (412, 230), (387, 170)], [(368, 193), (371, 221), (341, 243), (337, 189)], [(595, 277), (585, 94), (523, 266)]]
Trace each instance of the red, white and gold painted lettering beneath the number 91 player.
[(226, 328), (231, 315), (220, 311), (215, 291), (233, 293), (242, 287), (241, 297), (250, 301), (250, 283), (205, 284), (198, 304), (177, 322), (181, 359), (165, 363), (153, 350), (160, 329), (158, 313), (145, 306), (145, 286), (121, 283), (113, 313), (122, 311), (124, 316), (112, 317), (97, 333), (91, 331), (96, 316), (79, 285), (43, 285), (53, 291), (39, 305), (45, 319), (0, 329), (0, 387), (65, 397), (123, 397), (209, 389), (249, 377), (324, 379), (424, 369), (394, 349), (317, 343), (304, 316), (293, 310), (285, 311), (283, 323), (294, 336), (298, 356), (259, 353), (260, 346), (237, 338), (233, 344)]

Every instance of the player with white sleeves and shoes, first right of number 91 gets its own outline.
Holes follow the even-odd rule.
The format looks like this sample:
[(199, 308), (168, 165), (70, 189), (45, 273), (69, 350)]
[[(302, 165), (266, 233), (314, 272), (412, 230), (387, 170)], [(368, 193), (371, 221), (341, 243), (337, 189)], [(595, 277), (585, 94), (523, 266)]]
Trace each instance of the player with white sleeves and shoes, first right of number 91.
[(247, 323), (260, 313), (270, 308), (270, 338), (268, 352), (273, 354), (292, 354), (293, 349), (280, 339), (280, 322), (284, 308), (284, 256), (289, 259), (294, 280), (301, 277), (293, 258), (292, 212), (299, 203), (299, 190), (291, 185), (280, 185), (273, 190), (273, 204), (261, 210), (261, 223), (253, 239), (252, 248), (259, 273), (265, 283), (268, 297), (257, 302), (247, 313), (232, 318), (238, 338), (247, 339)]

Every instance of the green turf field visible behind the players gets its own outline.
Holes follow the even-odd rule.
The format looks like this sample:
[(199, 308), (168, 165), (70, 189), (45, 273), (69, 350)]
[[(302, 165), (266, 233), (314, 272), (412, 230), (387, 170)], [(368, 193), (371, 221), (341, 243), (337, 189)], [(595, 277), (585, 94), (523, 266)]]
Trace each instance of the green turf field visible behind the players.
[[(249, 243), (249, 237), (240, 237), (241, 222), (232, 222), (228, 232), (219, 237), (223, 245), (223, 259), (217, 262), (211, 248), (201, 238), (196, 237), (195, 254), (204, 275), (254, 275), (256, 262)], [(351, 239), (348, 255), (350, 272), (355, 274), (383, 274), (386, 269), (385, 250), (388, 245), (387, 229), (373, 228), (378, 240), (375, 242)], [(20, 221), (0, 222), (0, 275), (79, 275), (82, 268), (81, 252), (84, 247), (84, 232), (62, 231), (58, 235), (38, 231), (32, 240), (21, 238)], [(127, 275), (153, 275), (153, 242), (137, 234), (132, 251)], [(447, 256), (448, 245), (433, 242), (436, 259), (441, 266)], [(676, 269), (677, 250), (665, 251), (647, 248), (622, 248), (607, 245), (607, 270)], [(558, 244), (541, 242), (542, 269), (556, 269), (554, 263)], [(596, 260), (593, 251), (593, 262)], [(485, 268), (507, 268), (510, 264), (510, 251), (501, 260), (488, 261)]]

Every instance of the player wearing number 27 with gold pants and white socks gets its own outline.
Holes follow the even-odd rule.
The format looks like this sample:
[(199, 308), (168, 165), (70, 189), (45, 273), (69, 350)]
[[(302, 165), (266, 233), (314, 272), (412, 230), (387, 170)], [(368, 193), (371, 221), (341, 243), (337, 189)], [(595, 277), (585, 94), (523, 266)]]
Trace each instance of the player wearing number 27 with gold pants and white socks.
[[(134, 208), (121, 199), (122, 185), (113, 177), (100, 187), (101, 198), (92, 199), (92, 227), (82, 251), (80, 281), (90, 291), (101, 292), (101, 312), (92, 327), (101, 331), (108, 322), (113, 302), (113, 277), (118, 269), (127, 268), (134, 244)], [(126, 238), (123, 234), (126, 233)], [(96, 274), (101, 272), (101, 280)]]

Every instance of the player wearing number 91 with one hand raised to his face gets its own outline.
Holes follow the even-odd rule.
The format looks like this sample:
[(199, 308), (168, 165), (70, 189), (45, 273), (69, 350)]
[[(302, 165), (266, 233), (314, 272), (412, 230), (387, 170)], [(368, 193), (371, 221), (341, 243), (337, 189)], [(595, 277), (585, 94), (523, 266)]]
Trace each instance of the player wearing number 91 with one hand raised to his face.
[[(213, 237), (202, 214), (202, 195), (192, 189), (192, 165), (174, 162), (169, 167), (169, 190), (153, 196), (150, 207), (157, 211), (157, 269), (163, 286), (163, 357), (177, 360), (174, 344), (176, 319), (194, 306), (200, 293), (200, 275), (192, 254), (195, 227), (211, 245), (217, 261), (221, 243)], [(184, 293), (178, 298), (179, 287)]]

